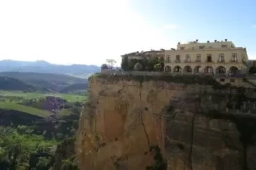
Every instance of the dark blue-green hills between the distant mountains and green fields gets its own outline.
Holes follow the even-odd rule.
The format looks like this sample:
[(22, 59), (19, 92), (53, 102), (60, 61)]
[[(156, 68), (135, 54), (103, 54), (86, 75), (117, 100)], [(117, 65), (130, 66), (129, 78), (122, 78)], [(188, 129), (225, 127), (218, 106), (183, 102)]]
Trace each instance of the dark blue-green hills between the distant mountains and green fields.
[(74, 92), (86, 89), (87, 80), (50, 73), (0, 72), (0, 90)]

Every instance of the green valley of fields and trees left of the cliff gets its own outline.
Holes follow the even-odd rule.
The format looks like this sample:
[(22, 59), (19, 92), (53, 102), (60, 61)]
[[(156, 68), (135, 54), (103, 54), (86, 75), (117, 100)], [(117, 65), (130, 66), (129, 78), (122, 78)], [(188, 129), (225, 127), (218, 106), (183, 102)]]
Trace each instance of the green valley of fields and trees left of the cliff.
[(0, 169), (77, 170), (73, 137), (86, 84), (66, 86), (66, 93), (18, 90), (18, 85), (0, 91)]

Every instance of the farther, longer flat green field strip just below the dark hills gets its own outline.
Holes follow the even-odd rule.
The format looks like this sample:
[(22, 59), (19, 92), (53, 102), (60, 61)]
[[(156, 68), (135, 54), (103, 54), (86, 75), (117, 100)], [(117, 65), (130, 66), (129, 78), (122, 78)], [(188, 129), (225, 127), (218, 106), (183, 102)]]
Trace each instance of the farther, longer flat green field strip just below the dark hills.
[(32, 99), (32, 98), (43, 98), (46, 96), (55, 96), (59, 98), (63, 98), (68, 102), (84, 102), (87, 99), (85, 95), (77, 95), (77, 94), (64, 94), (64, 93), (36, 93), (36, 92), (22, 92), (22, 91), (0, 91), (0, 96), (6, 97), (22, 97), (24, 99)]

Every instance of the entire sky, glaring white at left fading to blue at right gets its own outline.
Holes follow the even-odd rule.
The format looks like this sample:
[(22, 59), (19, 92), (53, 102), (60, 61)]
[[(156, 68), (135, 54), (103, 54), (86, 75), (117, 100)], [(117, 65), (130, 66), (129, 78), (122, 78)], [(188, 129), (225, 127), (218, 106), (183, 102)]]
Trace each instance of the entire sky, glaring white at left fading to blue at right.
[(0, 1), (0, 60), (101, 65), (196, 39), (232, 40), (256, 59), (254, 1)]

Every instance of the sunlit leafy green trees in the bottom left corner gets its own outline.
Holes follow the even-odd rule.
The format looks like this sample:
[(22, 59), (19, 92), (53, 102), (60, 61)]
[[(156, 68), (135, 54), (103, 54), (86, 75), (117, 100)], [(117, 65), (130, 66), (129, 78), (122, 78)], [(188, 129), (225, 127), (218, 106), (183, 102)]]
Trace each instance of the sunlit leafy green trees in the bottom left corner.
[[(55, 149), (58, 144), (56, 140), (46, 140), (30, 131), (18, 132), (14, 128), (0, 127), (1, 170), (54, 170)], [(63, 170), (68, 170), (69, 167), (72, 167), (70, 170), (77, 169), (75, 159), (72, 162), (59, 161)]]

